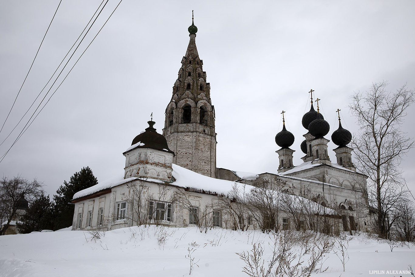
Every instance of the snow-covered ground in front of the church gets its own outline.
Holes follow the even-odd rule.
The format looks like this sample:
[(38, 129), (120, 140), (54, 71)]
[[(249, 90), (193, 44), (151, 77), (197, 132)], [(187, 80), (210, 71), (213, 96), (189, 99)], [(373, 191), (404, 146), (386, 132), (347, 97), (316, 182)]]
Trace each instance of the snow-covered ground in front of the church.
[[(191, 276), (246, 277), (244, 262), (235, 252), (249, 251), (261, 243), (264, 257), (273, 244), (260, 231), (231, 231), (221, 228), (200, 233), (197, 228), (132, 227), (101, 233), (93, 239), (88, 231), (57, 231), (0, 236), (0, 276), (188, 276), (188, 249), (198, 261)], [(360, 234), (349, 242), (345, 272), (339, 258), (330, 252), (322, 277), (411, 276), (395, 270), (415, 267), (415, 246), (391, 249), (387, 243)], [(381, 274), (384, 270), (384, 274)], [(374, 271), (374, 272), (373, 272)], [(377, 271), (377, 272), (376, 272)], [(377, 273), (377, 274), (376, 274)]]

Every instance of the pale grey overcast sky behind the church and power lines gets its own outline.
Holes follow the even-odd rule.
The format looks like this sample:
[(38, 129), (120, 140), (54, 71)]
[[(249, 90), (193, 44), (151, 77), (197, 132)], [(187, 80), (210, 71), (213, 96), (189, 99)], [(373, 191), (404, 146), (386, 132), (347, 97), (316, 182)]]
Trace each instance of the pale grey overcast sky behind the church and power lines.
[[(118, 2), (108, 2), (95, 22), (97, 27), (90, 31), (93, 35)], [(0, 143), (100, 3), (62, 1), (0, 133)], [(0, 2), (1, 125), (58, 4), (57, 0)], [(358, 130), (347, 108), (354, 92), (383, 80), (389, 81), (391, 91), (405, 83), (415, 87), (415, 1), (124, 0), (0, 163), (0, 174), (37, 178), (51, 196), (86, 166), (98, 181), (122, 179), (122, 152), (148, 127), (151, 113), (154, 127), (162, 132), (164, 112), (189, 42), (192, 10), (198, 27), (196, 45), (216, 112), (217, 167), (277, 173), (275, 135), (282, 129), (282, 110), (286, 127), (295, 136), (293, 163), (301, 164), (300, 143), (306, 132), (301, 118), (310, 109), (311, 88), (315, 98), (321, 99), (320, 112), (330, 123), (326, 137), (331, 139), (338, 127), (337, 108), (343, 127), (352, 133)], [(85, 42), (91, 39), (88, 36)], [(73, 61), (87, 46), (85, 42)], [(68, 66), (72, 65), (70, 61)], [(412, 106), (402, 126), (410, 137), (415, 137), (414, 115)], [(22, 123), (0, 146), (1, 155), (22, 130)], [(332, 162), (335, 147), (329, 143)], [(401, 164), (413, 191), (414, 153)]]

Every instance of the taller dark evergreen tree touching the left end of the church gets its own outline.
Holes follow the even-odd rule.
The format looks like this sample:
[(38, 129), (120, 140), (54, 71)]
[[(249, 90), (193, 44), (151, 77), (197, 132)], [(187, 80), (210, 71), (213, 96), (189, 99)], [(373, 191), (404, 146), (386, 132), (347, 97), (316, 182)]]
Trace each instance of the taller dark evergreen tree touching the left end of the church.
[(63, 181), (54, 195), (54, 216), (55, 230), (66, 228), (72, 225), (73, 212), (75, 205), (71, 204), (73, 195), (83, 189), (98, 184), (92, 170), (89, 167), (83, 167), (80, 172), (76, 172), (71, 176), (69, 182)]

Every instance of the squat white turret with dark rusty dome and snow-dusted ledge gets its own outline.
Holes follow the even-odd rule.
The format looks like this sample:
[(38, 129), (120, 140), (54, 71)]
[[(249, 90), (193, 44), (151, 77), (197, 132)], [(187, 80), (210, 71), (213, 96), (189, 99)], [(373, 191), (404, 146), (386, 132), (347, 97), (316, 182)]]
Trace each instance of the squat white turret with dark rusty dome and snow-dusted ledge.
[(166, 138), (154, 129), (155, 122), (148, 123), (146, 131), (137, 135), (131, 147), (122, 153), (125, 156), (124, 179), (144, 177), (170, 181), (174, 152), (168, 149)]

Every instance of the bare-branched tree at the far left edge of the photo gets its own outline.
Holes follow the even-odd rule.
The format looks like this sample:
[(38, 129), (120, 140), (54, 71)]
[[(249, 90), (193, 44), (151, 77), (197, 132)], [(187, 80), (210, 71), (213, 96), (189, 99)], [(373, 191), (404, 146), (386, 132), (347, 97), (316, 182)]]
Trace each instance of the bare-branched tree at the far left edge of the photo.
[(3, 177), (0, 181), (0, 235), (5, 235), (10, 222), (20, 216), (17, 210), (22, 197), (28, 202), (32, 201), (42, 194), (42, 186), (43, 184), (36, 179), (28, 181), (22, 176), (16, 176), (13, 179)]

